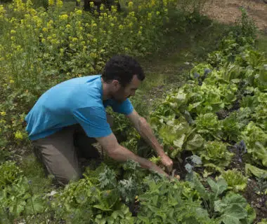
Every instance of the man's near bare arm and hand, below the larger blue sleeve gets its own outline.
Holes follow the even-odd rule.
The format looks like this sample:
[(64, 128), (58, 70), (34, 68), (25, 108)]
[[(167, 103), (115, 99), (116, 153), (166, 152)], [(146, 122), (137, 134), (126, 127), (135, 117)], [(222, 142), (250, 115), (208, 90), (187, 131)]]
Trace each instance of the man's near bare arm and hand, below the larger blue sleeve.
[(110, 134), (108, 137), (96, 138), (96, 140), (101, 144), (101, 146), (103, 146), (104, 150), (108, 153), (110, 158), (114, 160), (121, 162), (126, 162), (127, 160), (134, 160), (138, 162), (143, 168), (152, 169), (155, 172), (158, 172), (159, 174), (169, 176), (162, 169), (157, 167), (157, 165), (155, 165), (154, 163), (150, 162), (149, 160), (146, 160), (145, 158), (141, 158), (138, 155), (129, 151), (128, 149), (124, 148), (123, 146), (120, 146), (113, 133)]

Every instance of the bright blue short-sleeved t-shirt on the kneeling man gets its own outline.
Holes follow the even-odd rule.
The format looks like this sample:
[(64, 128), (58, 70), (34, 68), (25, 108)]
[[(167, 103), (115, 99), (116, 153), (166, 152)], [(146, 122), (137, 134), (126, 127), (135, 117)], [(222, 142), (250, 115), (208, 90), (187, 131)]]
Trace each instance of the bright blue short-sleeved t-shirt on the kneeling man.
[(133, 111), (129, 99), (119, 104), (103, 102), (101, 76), (72, 78), (55, 85), (38, 99), (25, 120), (31, 140), (47, 137), (63, 127), (79, 123), (88, 137), (106, 137), (112, 133), (105, 107), (126, 115)]

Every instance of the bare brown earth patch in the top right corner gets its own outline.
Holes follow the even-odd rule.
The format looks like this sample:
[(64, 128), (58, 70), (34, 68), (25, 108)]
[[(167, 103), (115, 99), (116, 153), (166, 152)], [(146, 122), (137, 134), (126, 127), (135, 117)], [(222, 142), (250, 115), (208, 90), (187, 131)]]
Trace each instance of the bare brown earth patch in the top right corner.
[(230, 24), (240, 17), (240, 7), (247, 10), (256, 27), (267, 33), (266, 0), (210, 0), (204, 4), (202, 13), (211, 19)]

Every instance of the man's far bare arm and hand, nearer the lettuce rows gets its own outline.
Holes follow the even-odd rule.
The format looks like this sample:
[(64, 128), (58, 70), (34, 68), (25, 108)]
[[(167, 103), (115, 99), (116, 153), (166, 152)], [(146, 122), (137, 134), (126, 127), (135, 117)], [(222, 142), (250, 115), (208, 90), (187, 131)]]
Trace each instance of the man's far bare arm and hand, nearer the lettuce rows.
[(157, 141), (155, 135), (153, 134), (150, 125), (148, 122), (145, 120), (145, 118), (139, 116), (139, 114), (133, 110), (131, 114), (126, 116), (131, 120), (133, 123), (133, 126), (136, 128), (136, 130), (140, 133), (141, 137), (145, 139), (148, 144), (154, 148), (156, 151), (157, 155), (162, 160), (162, 164), (169, 169), (169, 172), (172, 169), (173, 162), (172, 160), (164, 153), (162, 146), (160, 146), (159, 142)]

